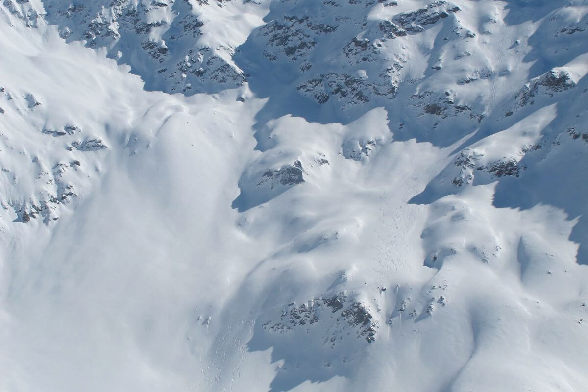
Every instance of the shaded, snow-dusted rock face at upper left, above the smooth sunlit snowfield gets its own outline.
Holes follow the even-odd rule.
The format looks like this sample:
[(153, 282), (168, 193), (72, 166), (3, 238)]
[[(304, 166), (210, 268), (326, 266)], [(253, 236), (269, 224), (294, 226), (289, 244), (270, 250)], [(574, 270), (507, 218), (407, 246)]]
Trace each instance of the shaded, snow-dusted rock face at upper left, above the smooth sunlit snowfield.
[(45, 3), (45, 18), (59, 26), (63, 38), (106, 48), (109, 56), (130, 65), (148, 89), (191, 95), (235, 88), (245, 81), (231, 59), (234, 47), (211, 47), (202, 31), (209, 14), (230, 18), (230, 12), (240, 12), (237, 5), (222, 12), (216, 4), (188, 0)]

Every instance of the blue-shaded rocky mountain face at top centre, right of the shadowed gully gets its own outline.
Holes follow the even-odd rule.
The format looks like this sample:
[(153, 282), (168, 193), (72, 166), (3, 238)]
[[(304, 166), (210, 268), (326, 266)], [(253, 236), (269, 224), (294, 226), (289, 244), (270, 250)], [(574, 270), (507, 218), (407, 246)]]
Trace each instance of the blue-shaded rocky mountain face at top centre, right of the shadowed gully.
[[(369, 18), (380, 4), (386, 9), (382, 19)], [(309, 9), (303, 17), (296, 14), (300, 6)], [(387, 105), (402, 80), (407, 35), (423, 32), (421, 26), (429, 28), (459, 11), (447, 2), (405, 13), (395, 13), (396, 6), (342, 0), (278, 2), (276, 15), (282, 16), (259, 28), (249, 41), (273, 68), (298, 73), (293, 87), (319, 105), (343, 110)], [(349, 39), (342, 41), (341, 36)], [(324, 66), (313, 66), (319, 59)]]

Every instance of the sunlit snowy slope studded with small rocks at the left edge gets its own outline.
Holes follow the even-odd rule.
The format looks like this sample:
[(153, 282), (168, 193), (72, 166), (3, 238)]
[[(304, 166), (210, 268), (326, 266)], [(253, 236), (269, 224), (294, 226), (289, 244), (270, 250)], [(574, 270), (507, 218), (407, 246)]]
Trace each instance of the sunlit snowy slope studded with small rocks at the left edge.
[[(35, 71), (31, 75), (35, 75)], [(92, 136), (96, 132), (103, 134), (105, 130), (91, 119), (82, 119), (83, 116), (76, 113), (79, 107), (74, 109), (72, 105), (69, 106), (71, 112), (62, 111), (63, 106), (58, 103), (60, 98), (55, 94), (67, 95), (64, 90), (42, 88), (36, 89), (34, 95), (28, 88), (35, 86), (26, 86), (26, 82), (17, 78), (6, 82), (0, 92), (5, 108), (1, 135), (5, 153), (1, 163), (2, 189), (5, 190), (2, 207), (16, 214), (15, 222), (39, 218), (49, 225), (59, 219), (62, 206), (88, 192), (100, 176), (96, 165), (99, 165), (101, 154), (79, 152), (106, 149), (102, 139)], [(71, 83), (68, 86), (76, 88)], [(41, 92), (44, 94), (39, 95)], [(78, 120), (83, 121), (83, 128), (72, 125)]]

